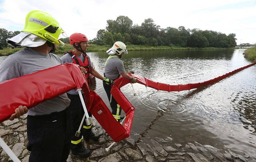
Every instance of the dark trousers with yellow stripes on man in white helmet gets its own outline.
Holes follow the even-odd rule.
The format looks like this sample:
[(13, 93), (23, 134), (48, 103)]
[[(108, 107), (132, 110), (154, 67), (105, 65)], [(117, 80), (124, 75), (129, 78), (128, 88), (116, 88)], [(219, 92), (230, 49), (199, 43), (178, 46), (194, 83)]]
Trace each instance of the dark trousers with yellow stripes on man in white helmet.
[[(103, 87), (107, 93), (108, 101), (110, 102), (110, 91), (111, 91), (111, 85), (107, 85), (105, 82), (103, 82)], [(122, 109), (120, 105), (116, 102), (115, 98), (112, 96), (110, 107), (112, 109), (112, 115), (114, 118), (119, 122), (121, 118), (121, 112)]]

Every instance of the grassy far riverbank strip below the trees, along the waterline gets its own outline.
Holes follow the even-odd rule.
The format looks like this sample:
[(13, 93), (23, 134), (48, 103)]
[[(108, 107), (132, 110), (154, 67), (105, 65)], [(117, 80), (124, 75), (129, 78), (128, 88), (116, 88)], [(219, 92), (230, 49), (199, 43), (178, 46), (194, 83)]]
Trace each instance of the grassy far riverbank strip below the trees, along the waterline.
[[(101, 51), (107, 51), (108, 48), (111, 46), (99, 46), (99, 45), (90, 45), (87, 52), (101, 52)], [(23, 48), (14, 48), (11, 47), (4, 48), (3, 50), (0, 50), (0, 56), (8, 56), (12, 53), (15, 53)], [(68, 50), (73, 49), (73, 47), (70, 44), (65, 44), (64, 47), (58, 47), (58, 49), (55, 51), (55, 53), (65, 53)], [(227, 49), (227, 48), (218, 48), (218, 47), (203, 47), (203, 48), (197, 48), (197, 47), (179, 47), (179, 46), (142, 46), (142, 45), (127, 45), (128, 51), (160, 51), (160, 50), (220, 50), (220, 49)], [(234, 49), (234, 48), (232, 48)]]

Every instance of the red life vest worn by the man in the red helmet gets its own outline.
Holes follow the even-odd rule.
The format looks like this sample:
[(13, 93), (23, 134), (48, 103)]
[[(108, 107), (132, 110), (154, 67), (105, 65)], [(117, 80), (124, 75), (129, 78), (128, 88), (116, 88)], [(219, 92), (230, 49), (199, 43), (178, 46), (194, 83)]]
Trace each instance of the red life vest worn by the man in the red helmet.
[[(84, 75), (87, 79), (88, 83), (91, 83), (91, 78), (90, 78), (90, 73), (91, 73), (91, 61), (90, 58), (87, 55), (84, 55), (84, 53), (82, 53), (82, 55), (84, 55), (84, 62), (82, 62), (77, 56), (76, 54), (70, 50), (64, 54), (69, 54), (72, 57), (73, 63), (79, 65), (80, 67), (84, 67), (85, 70), (87, 71), (87, 73)], [(86, 53), (85, 53), (86, 54)]]

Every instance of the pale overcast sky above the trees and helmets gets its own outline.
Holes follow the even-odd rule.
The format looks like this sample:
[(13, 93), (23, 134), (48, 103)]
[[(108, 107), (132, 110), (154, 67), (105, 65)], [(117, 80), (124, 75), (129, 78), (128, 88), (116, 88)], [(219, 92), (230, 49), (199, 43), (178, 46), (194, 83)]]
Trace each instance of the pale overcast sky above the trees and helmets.
[(68, 36), (81, 32), (88, 39), (105, 29), (108, 19), (124, 15), (133, 24), (152, 18), (161, 28), (235, 33), (237, 44), (256, 43), (256, 0), (0, 0), (0, 28), (21, 31), (32, 10), (52, 15)]

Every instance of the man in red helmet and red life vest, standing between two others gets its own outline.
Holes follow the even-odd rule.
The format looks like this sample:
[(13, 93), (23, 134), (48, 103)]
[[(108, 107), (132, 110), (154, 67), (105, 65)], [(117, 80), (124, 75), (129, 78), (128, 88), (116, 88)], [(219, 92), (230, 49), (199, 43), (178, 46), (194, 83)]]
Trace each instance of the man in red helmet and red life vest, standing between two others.
[[(111, 84), (111, 80), (108, 78), (102, 77), (93, 67), (90, 57), (86, 54), (87, 48), (89, 47), (88, 38), (82, 33), (74, 33), (69, 37), (70, 45), (73, 45), (73, 50), (68, 51), (61, 58), (62, 63), (74, 63), (80, 67), (84, 67), (87, 71), (85, 74), (88, 83), (90, 83), (90, 74), (94, 75), (96, 78)], [(112, 81), (114, 84), (114, 81)], [(90, 150), (85, 149), (82, 143), (82, 136), (84, 139), (99, 139), (99, 135), (96, 135), (92, 132), (92, 125), (86, 125), (83, 123), (81, 129), (81, 134), (79, 137), (76, 137), (76, 130), (78, 130), (79, 125), (84, 116), (84, 109), (80, 101), (78, 92), (75, 89), (72, 89), (67, 92), (68, 98), (71, 100), (69, 109), (71, 115), (71, 124), (72, 124), (72, 139), (71, 139), (71, 153), (78, 155), (80, 157), (87, 157), (90, 155)], [(92, 116), (90, 112), (89, 116)]]

